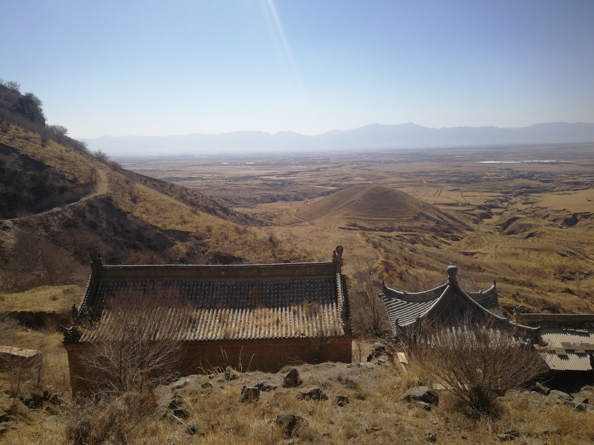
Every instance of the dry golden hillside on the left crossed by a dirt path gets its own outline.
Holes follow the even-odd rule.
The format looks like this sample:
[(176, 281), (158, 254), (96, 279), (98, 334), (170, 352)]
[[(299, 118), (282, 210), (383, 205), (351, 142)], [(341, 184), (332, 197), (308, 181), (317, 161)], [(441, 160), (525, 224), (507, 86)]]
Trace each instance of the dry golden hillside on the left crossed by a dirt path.
[[(175, 247), (183, 256), (188, 237), (200, 241), (201, 253), (212, 259), (238, 257), (246, 262), (281, 262), (305, 260), (297, 249), (269, 239), (257, 227), (238, 225), (230, 219), (247, 222), (235, 212), (198, 192), (184, 193), (176, 187), (147, 181), (150, 186), (116, 173), (88, 155), (49, 141), (42, 147), (39, 135), (11, 126), (0, 134), (0, 142), (42, 161), (69, 179), (97, 177), (97, 188), (78, 202), (55, 208), (40, 215), (30, 215), (4, 222), (2, 236), (10, 242), (10, 231), (17, 226), (42, 228), (56, 233), (84, 227), (99, 233), (115, 249), (160, 251)], [(129, 175), (128, 175), (129, 176)], [(142, 179), (142, 177), (138, 178)], [(144, 182), (144, 180), (143, 180)], [(176, 199), (179, 196), (188, 204)], [(203, 211), (200, 205), (206, 205)], [(216, 214), (216, 215), (213, 215)], [(112, 246), (113, 247), (113, 246)]]

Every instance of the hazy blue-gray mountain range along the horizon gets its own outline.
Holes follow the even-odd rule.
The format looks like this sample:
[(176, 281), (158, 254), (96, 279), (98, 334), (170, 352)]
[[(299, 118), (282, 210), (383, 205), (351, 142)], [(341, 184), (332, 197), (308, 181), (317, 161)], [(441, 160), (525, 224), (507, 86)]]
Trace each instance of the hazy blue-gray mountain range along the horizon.
[(550, 122), (520, 128), (427, 128), (412, 122), (400, 125), (372, 123), (360, 128), (332, 130), (315, 136), (291, 131), (276, 134), (236, 131), (184, 136), (100, 136), (80, 140), (87, 142), (91, 150), (100, 149), (109, 155), (560, 144), (594, 142), (594, 123)]

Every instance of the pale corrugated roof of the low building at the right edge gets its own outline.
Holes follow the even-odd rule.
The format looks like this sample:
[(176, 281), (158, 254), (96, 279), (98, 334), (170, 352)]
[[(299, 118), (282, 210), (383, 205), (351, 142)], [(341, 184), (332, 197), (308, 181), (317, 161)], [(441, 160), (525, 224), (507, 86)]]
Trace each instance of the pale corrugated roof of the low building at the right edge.
[[(563, 348), (561, 343), (567, 342), (573, 345), (580, 343), (594, 344), (594, 332), (592, 329), (587, 333), (568, 332), (561, 328), (542, 328), (541, 338), (548, 342), (546, 348)], [(543, 352), (543, 358), (549, 368), (561, 371), (590, 371), (592, 365), (590, 364), (589, 354), (576, 354), (573, 351), (567, 351), (567, 355), (559, 356), (555, 352)]]

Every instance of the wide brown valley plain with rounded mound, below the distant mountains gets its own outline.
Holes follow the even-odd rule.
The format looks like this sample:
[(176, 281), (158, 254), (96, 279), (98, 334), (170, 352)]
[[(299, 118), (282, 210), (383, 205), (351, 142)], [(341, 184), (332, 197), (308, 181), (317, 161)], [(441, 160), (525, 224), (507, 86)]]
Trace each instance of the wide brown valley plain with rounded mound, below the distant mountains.
[[(498, 282), (502, 308), (594, 312), (594, 145), (115, 158), (262, 221), (317, 260), (387, 285)], [(474, 290), (474, 289), (473, 289)]]

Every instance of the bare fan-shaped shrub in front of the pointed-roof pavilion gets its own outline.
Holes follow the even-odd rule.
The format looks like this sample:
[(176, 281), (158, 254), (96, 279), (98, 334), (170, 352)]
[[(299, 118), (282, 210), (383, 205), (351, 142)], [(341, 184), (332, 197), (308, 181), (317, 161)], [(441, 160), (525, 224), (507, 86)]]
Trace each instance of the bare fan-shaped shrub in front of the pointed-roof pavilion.
[(424, 341), (410, 347), (413, 363), (475, 414), (494, 415), (498, 398), (545, 371), (542, 357), (519, 329), (499, 329), (493, 320), (465, 319), (422, 330), (414, 335)]

